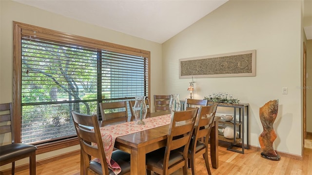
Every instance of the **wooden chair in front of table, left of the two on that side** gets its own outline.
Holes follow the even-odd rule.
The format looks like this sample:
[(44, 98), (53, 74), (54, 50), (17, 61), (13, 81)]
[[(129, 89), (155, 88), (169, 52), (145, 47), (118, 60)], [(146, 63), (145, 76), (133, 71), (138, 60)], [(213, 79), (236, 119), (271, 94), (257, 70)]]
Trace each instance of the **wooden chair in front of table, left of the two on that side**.
[[(172, 113), (166, 147), (146, 154), (147, 175), (151, 171), (159, 175), (169, 175), (183, 168), (187, 175), (187, 154), (194, 129), (198, 108)], [(176, 149), (184, 147), (183, 153)]]

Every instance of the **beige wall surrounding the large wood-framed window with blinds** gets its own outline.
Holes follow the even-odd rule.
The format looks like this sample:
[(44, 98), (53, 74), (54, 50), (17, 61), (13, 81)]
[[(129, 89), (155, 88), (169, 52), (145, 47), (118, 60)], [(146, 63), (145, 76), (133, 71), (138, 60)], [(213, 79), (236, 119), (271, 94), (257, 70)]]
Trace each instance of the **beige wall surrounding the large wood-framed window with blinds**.
[[(161, 44), (69, 19), (11, 0), (0, 0), (0, 103), (12, 101), (13, 21), (151, 51), (151, 96), (162, 93)], [(151, 102), (154, 104), (154, 100)], [(1, 144), (7, 140), (6, 137), (0, 137)], [(37, 160), (77, 149), (79, 146), (37, 155)], [(24, 162), (25, 159), (18, 161), (16, 165)], [(0, 170), (7, 168), (9, 166), (2, 166)]]

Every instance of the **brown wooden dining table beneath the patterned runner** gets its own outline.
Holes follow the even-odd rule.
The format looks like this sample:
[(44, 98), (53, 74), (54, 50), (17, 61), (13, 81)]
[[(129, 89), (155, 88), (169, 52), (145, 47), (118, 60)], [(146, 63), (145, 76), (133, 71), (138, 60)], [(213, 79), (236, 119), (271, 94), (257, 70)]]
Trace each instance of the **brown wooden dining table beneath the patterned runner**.
[[(146, 117), (157, 117), (170, 114), (169, 111), (148, 113)], [(215, 117), (210, 133), (210, 157), (213, 168), (218, 168), (218, 120)], [(169, 134), (169, 124), (138, 131), (125, 136), (118, 136), (114, 148), (125, 151), (131, 155), (131, 175), (145, 175), (145, 155), (159, 148), (165, 147)]]

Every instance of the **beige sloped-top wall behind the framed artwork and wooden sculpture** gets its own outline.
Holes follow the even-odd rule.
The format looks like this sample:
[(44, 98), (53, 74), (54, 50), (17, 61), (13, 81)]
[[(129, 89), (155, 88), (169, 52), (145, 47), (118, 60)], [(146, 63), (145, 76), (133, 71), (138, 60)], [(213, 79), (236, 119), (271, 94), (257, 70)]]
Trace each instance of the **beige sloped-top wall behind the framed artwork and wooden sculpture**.
[[(278, 99), (278, 116), (274, 122), (277, 138), (273, 148), (301, 156), (300, 1), (230, 0), (166, 41), (162, 54), (167, 93), (189, 97), (186, 89), (191, 79), (178, 78), (178, 59), (253, 49), (256, 50), (255, 77), (195, 78), (194, 97), (228, 92), (249, 103), (249, 140), (258, 147), (258, 136), (263, 131), (259, 108), (269, 100)], [(282, 87), (288, 87), (287, 95), (282, 94)]]

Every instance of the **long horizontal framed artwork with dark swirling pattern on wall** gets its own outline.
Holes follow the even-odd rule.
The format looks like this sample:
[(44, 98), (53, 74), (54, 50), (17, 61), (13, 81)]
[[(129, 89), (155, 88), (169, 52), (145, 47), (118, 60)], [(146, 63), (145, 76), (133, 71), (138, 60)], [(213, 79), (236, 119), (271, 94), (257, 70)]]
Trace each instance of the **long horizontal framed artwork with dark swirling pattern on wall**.
[(255, 50), (179, 59), (179, 78), (255, 76)]

